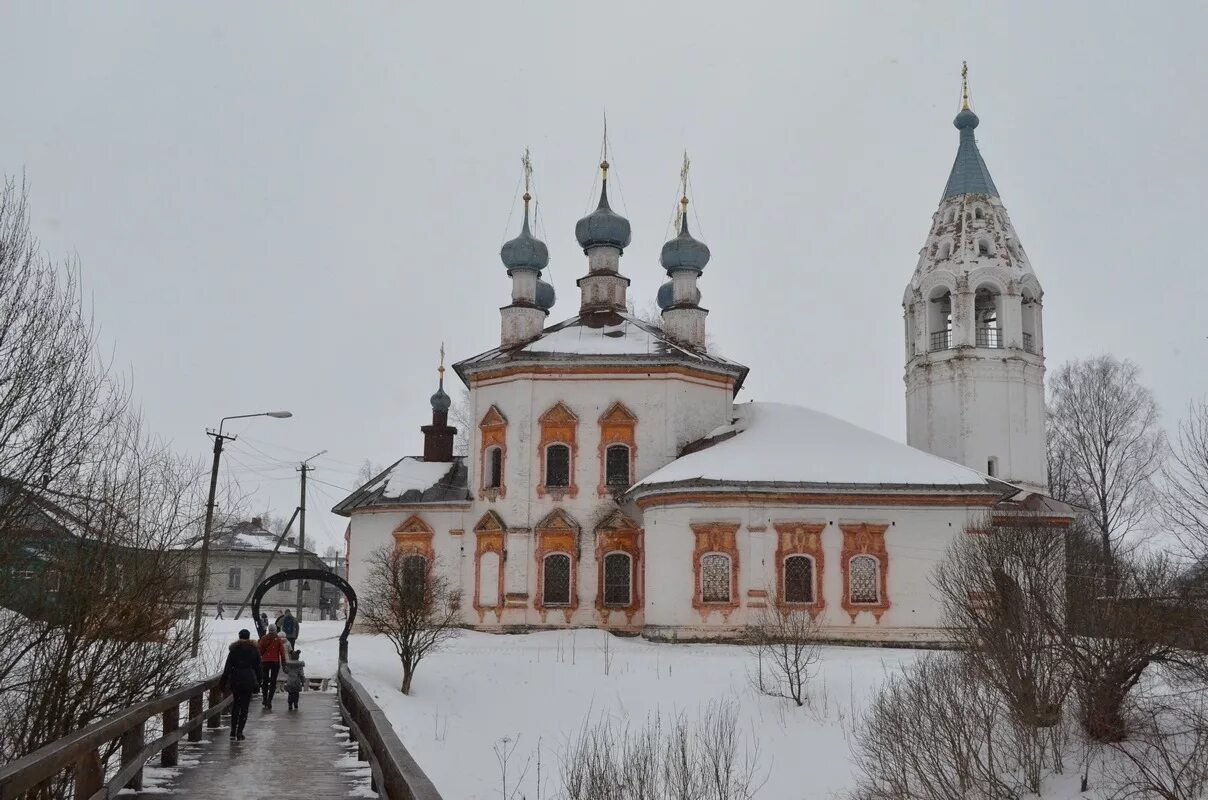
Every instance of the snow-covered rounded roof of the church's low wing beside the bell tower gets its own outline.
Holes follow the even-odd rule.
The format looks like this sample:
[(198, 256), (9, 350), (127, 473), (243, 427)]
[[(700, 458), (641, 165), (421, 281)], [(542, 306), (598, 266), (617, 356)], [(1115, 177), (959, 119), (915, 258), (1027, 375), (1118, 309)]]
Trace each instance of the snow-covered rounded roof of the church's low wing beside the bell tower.
[[(710, 444), (712, 440), (712, 444)], [(946, 486), (998, 491), (986, 476), (830, 415), (780, 402), (734, 406), (702, 447), (639, 481), (657, 485)]]

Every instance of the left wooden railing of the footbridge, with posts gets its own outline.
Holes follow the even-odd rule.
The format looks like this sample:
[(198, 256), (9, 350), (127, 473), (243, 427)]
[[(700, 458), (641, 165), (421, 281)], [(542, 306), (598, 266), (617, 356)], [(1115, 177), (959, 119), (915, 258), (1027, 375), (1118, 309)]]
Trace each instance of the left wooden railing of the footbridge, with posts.
[[(105, 800), (123, 788), (141, 789), (149, 760), (158, 755), (161, 766), (176, 766), (180, 740), (187, 736), (190, 742), (199, 742), (203, 724), (221, 725), (220, 714), (230, 708), (231, 697), (222, 696), (220, 678), (215, 674), (132, 706), (0, 766), (0, 800), (14, 800), (64, 772), (72, 776), (76, 800)], [(188, 717), (181, 723), (184, 703), (188, 703)], [(163, 732), (149, 743), (146, 724), (156, 715), (162, 717)], [(121, 764), (106, 781), (100, 754), (114, 742), (120, 742)]]

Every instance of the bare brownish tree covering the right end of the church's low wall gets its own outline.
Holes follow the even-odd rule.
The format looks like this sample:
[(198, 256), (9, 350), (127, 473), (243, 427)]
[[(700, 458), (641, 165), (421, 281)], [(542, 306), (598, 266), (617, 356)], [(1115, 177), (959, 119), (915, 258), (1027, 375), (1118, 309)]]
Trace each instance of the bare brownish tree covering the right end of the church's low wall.
[(1073, 679), (1062, 647), (1064, 551), (1064, 529), (1039, 517), (986, 521), (949, 546), (933, 575), (970, 666), (1033, 727), (1058, 724)]

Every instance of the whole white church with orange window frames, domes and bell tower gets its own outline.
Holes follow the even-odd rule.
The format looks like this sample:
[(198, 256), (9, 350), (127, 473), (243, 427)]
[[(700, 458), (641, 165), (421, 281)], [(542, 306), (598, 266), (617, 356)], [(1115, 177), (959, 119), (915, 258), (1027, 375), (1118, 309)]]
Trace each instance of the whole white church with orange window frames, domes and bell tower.
[[(965, 94), (968, 98), (968, 93)], [(712, 353), (697, 284), (709, 249), (680, 215), (662, 249), (661, 324), (627, 308), (629, 222), (579, 221), (577, 314), (547, 325), (546, 245), (524, 222), (499, 346), (454, 365), (476, 424), (453, 456), (441, 387), (423, 456), (341, 502), (348, 578), (394, 545), (460, 591), (482, 630), (588, 626), (692, 639), (783, 603), (835, 639), (942, 636), (930, 573), (956, 537), (1044, 495), (1043, 292), (974, 139), (906, 286), (906, 445), (789, 404), (738, 402), (747, 367)], [(683, 201), (687, 204), (687, 198)], [(423, 560), (422, 562), (419, 560)]]

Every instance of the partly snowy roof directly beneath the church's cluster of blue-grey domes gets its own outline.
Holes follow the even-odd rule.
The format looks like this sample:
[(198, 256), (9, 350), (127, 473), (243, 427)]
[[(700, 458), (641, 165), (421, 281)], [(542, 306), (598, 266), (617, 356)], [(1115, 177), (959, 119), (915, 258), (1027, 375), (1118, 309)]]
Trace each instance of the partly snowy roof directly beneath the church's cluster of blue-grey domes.
[[(600, 324), (603, 321), (604, 324)], [(528, 342), (496, 347), (454, 365), (465, 379), (465, 370), (481, 365), (527, 360), (564, 360), (567, 358), (602, 363), (678, 361), (721, 367), (742, 384), (747, 367), (714, 353), (678, 344), (657, 326), (625, 312), (606, 315), (571, 317), (546, 327)]]

